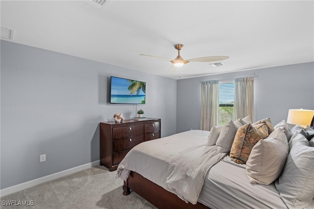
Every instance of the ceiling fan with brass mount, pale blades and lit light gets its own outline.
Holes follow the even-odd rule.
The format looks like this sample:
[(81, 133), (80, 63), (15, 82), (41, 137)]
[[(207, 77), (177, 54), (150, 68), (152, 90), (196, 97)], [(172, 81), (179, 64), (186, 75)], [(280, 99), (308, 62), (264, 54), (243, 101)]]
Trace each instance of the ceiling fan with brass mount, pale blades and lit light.
[(169, 69), (169, 73), (175, 71), (176, 67), (180, 67), (188, 62), (214, 62), (214, 61), (220, 61), (220, 60), (229, 58), (229, 56), (204, 56), (204, 57), (198, 57), (198, 58), (193, 58), (193, 59), (183, 59), (180, 56), (180, 50), (183, 48), (183, 44), (176, 44), (174, 47), (176, 50), (178, 50), (178, 56), (175, 59), (169, 59), (169, 58), (146, 55), (146, 54), (139, 54), (139, 55), (150, 56), (150, 57), (165, 59), (165, 60), (170, 61), (173, 64), (173, 66)]

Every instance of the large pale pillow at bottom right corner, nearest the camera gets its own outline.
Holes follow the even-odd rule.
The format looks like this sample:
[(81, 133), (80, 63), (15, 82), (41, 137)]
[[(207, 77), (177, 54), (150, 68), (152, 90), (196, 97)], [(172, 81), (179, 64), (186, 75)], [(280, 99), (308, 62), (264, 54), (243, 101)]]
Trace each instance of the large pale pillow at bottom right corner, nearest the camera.
[(314, 147), (309, 146), (302, 134), (293, 140), (285, 168), (275, 186), (288, 208), (306, 208), (314, 198)]

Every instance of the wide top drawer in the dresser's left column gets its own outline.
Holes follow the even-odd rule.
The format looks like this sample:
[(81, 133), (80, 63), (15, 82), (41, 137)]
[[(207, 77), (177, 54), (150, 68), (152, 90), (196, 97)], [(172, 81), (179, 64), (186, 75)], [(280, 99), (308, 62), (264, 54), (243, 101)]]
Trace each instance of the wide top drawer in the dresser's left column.
[(144, 133), (143, 124), (112, 128), (112, 139), (125, 138)]

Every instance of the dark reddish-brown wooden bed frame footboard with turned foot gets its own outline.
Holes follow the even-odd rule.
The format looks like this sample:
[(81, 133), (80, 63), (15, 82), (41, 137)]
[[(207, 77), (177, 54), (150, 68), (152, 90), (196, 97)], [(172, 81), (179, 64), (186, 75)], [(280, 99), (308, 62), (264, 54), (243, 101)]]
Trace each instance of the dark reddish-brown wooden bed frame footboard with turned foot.
[(196, 205), (187, 204), (176, 194), (165, 190), (133, 171), (131, 171), (128, 180), (124, 181), (122, 188), (124, 195), (129, 195), (132, 190), (158, 209), (209, 209), (200, 203)]

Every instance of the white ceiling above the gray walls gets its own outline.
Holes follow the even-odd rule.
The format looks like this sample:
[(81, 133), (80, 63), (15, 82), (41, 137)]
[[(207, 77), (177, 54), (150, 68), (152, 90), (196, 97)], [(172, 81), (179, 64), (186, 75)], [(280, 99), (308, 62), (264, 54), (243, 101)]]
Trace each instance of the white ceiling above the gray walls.
[[(314, 1), (83, 0), (0, 1), (1, 26), (15, 43), (181, 79), (314, 61)], [(230, 56), (224, 66), (181, 56)]]

